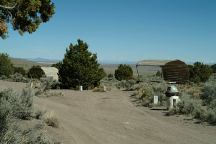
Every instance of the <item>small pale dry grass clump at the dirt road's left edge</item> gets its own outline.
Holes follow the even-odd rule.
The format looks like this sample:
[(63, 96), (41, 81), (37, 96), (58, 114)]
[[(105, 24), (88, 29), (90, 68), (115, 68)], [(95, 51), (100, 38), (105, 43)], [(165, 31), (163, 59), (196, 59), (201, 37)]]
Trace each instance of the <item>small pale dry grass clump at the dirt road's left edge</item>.
[(54, 128), (58, 128), (59, 127), (59, 121), (56, 118), (54, 112), (47, 112), (44, 116), (43, 116), (43, 120), (44, 122), (51, 127)]

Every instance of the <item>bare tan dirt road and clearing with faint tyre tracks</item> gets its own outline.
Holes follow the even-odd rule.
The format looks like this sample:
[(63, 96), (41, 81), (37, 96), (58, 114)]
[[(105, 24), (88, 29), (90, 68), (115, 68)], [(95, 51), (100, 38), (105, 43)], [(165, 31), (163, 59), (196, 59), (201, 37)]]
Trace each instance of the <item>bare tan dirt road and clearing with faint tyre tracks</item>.
[[(20, 91), (25, 84), (0, 81), (0, 89)], [(35, 97), (36, 107), (53, 111), (59, 128), (48, 133), (64, 144), (215, 144), (216, 126), (184, 116), (137, 107), (130, 92), (57, 90), (64, 96)]]

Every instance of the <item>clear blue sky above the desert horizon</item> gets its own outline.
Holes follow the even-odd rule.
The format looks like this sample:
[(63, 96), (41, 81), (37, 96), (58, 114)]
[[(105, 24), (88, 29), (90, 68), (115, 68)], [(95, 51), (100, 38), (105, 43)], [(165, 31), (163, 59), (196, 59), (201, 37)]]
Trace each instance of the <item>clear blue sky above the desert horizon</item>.
[(216, 62), (215, 0), (54, 0), (56, 14), (37, 32), (10, 31), (0, 51), (62, 59), (82, 39), (102, 62), (181, 59)]

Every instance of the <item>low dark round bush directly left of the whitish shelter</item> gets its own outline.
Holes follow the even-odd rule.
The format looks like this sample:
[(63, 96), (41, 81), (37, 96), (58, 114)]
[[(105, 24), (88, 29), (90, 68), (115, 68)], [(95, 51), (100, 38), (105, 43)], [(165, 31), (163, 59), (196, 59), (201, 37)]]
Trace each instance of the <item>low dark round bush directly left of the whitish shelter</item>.
[(41, 69), (40, 66), (33, 66), (29, 69), (28, 72), (28, 77), (29, 78), (35, 78), (35, 79), (40, 79), (42, 76), (44, 76), (45, 73), (44, 71)]

